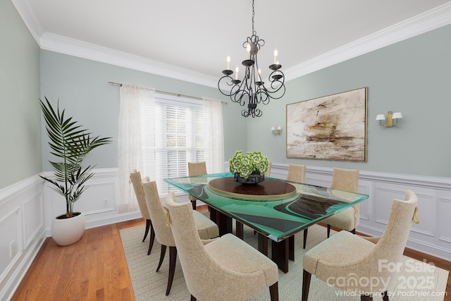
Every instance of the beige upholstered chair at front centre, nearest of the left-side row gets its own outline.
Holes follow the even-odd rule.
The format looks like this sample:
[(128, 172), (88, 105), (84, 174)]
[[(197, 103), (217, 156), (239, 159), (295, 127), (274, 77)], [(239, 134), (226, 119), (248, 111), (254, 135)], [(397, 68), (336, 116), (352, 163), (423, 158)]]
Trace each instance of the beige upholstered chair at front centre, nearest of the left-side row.
[(278, 267), (271, 259), (233, 234), (201, 240), (190, 205), (176, 203), (174, 192), (166, 206), (192, 301), (247, 300), (268, 287), (271, 300), (278, 300)]

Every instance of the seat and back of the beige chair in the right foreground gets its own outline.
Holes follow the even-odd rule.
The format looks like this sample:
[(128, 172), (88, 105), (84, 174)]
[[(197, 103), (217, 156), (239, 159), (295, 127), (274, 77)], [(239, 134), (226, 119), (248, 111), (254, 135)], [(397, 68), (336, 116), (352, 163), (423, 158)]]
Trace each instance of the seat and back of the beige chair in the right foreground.
[[(328, 252), (328, 250), (340, 245), (340, 240), (332, 243), (330, 241), (333, 240), (328, 239), (321, 243), (324, 244), (322, 249), (320, 244), (309, 251), (311, 254), (307, 252), (304, 255), (304, 270), (315, 274), (316, 278), (322, 281), (338, 279), (339, 277), (347, 278), (347, 281), (332, 281), (334, 286), (343, 290), (354, 290), (362, 293), (386, 291), (390, 287), (391, 281), (397, 278), (396, 274), (399, 270), (394, 267), (403, 262), (402, 254), (407, 243), (417, 203), (418, 199), (414, 192), (407, 190), (404, 200), (393, 199), (387, 227), (381, 237), (355, 237), (354, 240), (349, 240), (349, 243), (356, 243), (354, 247), (357, 249), (369, 250), (363, 256), (355, 258), (350, 251), (349, 257), (333, 258), (333, 254), (329, 254), (328, 260), (324, 260), (319, 253)], [(350, 239), (346, 238), (345, 234), (348, 233), (341, 231), (335, 235), (342, 240)], [(371, 244), (371, 242), (376, 245)], [(316, 256), (317, 254), (319, 256)], [(312, 258), (315, 258), (316, 261), (311, 260)], [(349, 280), (350, 278), (355, 281)], [(366, 279), (369, 281), (363, 281)]]

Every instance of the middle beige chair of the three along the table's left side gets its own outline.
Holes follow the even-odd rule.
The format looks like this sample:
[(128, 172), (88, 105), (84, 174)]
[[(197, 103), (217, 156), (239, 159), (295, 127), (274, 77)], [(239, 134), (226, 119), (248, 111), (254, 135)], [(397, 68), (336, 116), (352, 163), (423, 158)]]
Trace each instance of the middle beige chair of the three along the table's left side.
[[(161, 264), (163, 263), (164, 255), (166, 254), (166, 247), (169, 247), (169, 274), (168, 285), (166, 287), (166, 295), (169, 295), (174, 278), (177, 248), (175, 247), (171, 225), (167, 221), (168, 211), (165, 207), (163, 207), (155, 181), (150, 182), (149, 177), (144, 178), (142, 188), (144, 188), (144, 197), (146, 199), (147, 208), (149, 209), (152, 225), (154, 226), (155, 238), (161, 244), (160, 261), (156, 271), (159, 271)], [(216, 223), (210, 221), (200, 212), (194, 210), (192, 211), (194, 216), (195, 233), (197, 233), (194, 233), (193, 235), (197, 236), (199, 239), (218, 237), (219, 229)]]

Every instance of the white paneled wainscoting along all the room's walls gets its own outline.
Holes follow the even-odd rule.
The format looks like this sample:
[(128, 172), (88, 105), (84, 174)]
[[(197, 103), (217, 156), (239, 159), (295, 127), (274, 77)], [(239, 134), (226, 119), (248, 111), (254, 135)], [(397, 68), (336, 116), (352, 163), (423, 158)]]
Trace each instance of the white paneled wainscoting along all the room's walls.
[[(228, 162), (224, 171), (228, 171)], [(287, 173), (288, 164), (272, 164), (271, 177), (286, 178)], [(307, 166), (307, 183), (328, 187), (331, 179), (332, 168)], [(139, 211), (119, 214), (118, 184), (118, 168), (95, 170), (89, 189), (75, 203), (75, 211), (86, 215), (87, 228), (141, 216)], [(406, 190), (419, 197), (421, 219), (418, 225), (412, 224), (407, 246), (451, 261), (451, 178), (361, 170), (359, 192), (369, 195), (369, 199), (360, 205), (357, 231), (381, 235), (392, 200), (403, 199)], [(0, 300), (11, 298), (45, 238), (50, 236), (52, 219), (66, 211), (61, 198), (39, 176), (0, 190)]]

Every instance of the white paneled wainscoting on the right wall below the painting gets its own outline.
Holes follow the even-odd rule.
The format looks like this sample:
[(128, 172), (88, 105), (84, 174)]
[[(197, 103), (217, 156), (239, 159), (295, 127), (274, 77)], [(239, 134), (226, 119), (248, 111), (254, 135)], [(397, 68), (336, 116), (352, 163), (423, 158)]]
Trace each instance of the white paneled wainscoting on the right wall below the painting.
[[(307, 166), (306, 183), (330, 185), (333, 168)], [(271, 177), (286, 178), (288, 164), (272, 164)], [(382, 235), (393, 199), (406, 190), (418, 197), (419, 224), (412, 223), (407, 247), (451, 261), (451, 178), (412, 176), (373, 171), (359, 172), (359, 192), (369, 195), (360, 203), (357, 231)]]

